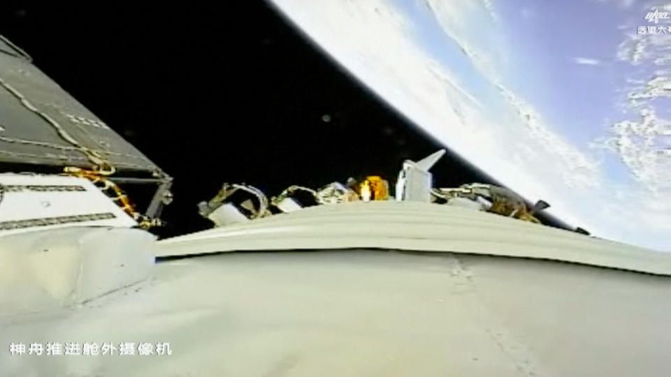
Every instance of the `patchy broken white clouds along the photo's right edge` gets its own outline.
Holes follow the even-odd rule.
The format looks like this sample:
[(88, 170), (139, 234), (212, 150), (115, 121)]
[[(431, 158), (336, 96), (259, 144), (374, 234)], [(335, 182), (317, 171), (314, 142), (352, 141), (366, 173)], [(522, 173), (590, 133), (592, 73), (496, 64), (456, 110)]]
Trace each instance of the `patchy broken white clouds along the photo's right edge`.
[[(616, 104), (625, 119), (614, 121), (609, 135), (593, 145), (612, 151), (637, 184), (622, 188), (622, 195), (605, 203), (603, 211), (614, 220), (623, 219), (617, 226), (621, 237), (647, 232), (658, 237), (659, 249), (671, 251), (671, 119), (656, 111), (671, 98), (671, 40), (631, 32), (623, 36), (616, 57), (635, 68), (623, 80), (623, 99)], [(631, 119), (632, 112), (637, 119)], [(630, 209), (624, 216), (623, 208)]]

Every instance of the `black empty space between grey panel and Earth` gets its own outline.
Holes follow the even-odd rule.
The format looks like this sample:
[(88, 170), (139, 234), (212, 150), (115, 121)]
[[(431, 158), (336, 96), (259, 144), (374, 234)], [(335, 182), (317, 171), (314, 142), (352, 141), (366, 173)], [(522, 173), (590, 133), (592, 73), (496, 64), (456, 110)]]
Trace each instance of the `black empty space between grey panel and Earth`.
[[(269, 196), (350, 176), (393, 185), (403, 160), (442, 147), (264, 1), (0, 9), (0, 34), (174, 177), (164, 236), (210, 227), (196, 203), (223, 182)], [(432, 171), (435, 186), (496, 183), (454, 155)]]

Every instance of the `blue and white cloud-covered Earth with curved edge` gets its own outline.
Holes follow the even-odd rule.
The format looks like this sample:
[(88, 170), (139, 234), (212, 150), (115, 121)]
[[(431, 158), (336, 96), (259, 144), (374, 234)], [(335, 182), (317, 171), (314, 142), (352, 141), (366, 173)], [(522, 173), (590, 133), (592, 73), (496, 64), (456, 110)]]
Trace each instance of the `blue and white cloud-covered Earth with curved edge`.
[(671, 251), (671, 3), (273, 3), (498, 181), (593, 235)]

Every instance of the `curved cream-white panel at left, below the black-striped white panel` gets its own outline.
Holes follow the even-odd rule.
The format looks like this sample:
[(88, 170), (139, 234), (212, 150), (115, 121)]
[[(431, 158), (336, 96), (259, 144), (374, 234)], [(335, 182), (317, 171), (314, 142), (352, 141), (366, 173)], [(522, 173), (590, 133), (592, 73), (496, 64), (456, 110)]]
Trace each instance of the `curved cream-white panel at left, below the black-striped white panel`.
[(144, 230), (103, 227), (0, 237), (0, 318), (72, 306), (147, 279), (154, 240)]

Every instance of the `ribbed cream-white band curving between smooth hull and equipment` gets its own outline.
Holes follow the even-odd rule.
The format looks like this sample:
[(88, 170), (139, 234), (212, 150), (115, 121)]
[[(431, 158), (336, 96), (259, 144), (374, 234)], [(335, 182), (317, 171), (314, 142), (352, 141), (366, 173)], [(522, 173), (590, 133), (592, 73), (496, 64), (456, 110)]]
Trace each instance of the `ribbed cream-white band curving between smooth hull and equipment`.
[(671, 275), (671, 254), (470, 209), (421, 202), (310, 207), (160, 241), (157, 256), (380, 248), (561, 260)]

